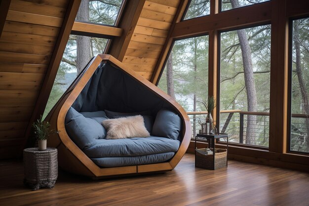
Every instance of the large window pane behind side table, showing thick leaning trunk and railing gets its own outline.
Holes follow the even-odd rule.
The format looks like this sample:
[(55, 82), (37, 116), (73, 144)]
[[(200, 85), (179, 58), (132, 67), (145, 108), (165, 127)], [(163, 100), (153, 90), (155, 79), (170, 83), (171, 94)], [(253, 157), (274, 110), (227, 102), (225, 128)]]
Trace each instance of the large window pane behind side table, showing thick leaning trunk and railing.
[(221, 132), (268, 147), (270, 25), (221, 33), (220, 72), (220, 110), (233, 111), (221, 113)]

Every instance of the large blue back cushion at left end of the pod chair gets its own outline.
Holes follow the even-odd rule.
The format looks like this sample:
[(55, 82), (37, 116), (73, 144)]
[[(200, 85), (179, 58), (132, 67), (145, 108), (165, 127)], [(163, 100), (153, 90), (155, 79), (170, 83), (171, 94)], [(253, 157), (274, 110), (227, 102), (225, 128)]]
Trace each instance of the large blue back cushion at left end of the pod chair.
[[(99, 119), (103, 121), (103, 118)], [(66, 115), (65, 126), (70, 138), (81, 150), (93, 146), (95, 139), (106, 135), (105, 128), (97, 120), (84, 117), (72, 107)]]

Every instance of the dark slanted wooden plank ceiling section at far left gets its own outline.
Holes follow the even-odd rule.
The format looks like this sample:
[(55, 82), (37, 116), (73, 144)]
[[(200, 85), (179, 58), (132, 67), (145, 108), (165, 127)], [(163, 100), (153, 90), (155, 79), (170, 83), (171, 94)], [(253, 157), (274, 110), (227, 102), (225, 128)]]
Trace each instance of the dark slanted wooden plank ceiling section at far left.
[(20, 155), (69, 1), (9, 4), (0, 37), (1, 159)]

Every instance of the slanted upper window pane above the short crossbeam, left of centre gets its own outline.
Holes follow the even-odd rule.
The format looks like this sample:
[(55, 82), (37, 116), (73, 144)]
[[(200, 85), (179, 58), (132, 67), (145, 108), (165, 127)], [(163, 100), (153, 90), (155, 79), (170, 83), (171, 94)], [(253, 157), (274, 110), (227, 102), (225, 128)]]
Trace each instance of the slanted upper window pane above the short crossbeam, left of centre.
[(122, 0), (81, 0), (76, 20), (114, 25)]

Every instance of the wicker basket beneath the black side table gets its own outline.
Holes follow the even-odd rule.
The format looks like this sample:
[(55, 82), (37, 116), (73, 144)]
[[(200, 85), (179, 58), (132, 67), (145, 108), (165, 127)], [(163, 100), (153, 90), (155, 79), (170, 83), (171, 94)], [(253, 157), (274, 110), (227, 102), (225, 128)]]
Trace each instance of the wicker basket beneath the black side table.
[[(213, 151), (212, 148), (210, 148)], [(204, 155), (205, 148), (195, 149), (195, 166), (205, 169), (220, 169), (227, 166), (227, 150), (216, 149), (215, 163), (213, 154)]]

